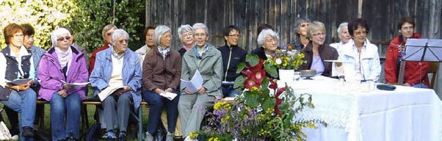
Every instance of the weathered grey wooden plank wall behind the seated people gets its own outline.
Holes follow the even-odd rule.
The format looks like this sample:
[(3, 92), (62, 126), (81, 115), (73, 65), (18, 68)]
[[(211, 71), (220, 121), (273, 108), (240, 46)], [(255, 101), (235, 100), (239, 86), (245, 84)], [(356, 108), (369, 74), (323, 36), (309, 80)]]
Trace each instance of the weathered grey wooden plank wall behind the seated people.
[[(205, 23), (211, 33), (209, 43), (224, 45), (222, 30), (227, 25), (241, 29), (240, 47), (250, 52), (256, 48), (256, 28), (273, 25), (280, 35), (280, 46), (296, 41), (297, 17), (309, 17), (325, 23), (326, 43), (338, 41), (336, 28), (343, 21), (358, 18), (356, 0), (146, 0), (146, 26), (167, 25), (173, 31), (173, 47), (181, 47), (177, 28), (182, 24)], [(370, 0), (362, 2), (362, 17), (371, 28), (369, 39), (378, 44), (385, 56), (388, 41), (398, 34), (396, 22), (414, 17), (416, 32), (425, 38), (441, 38), (442, 0)]]

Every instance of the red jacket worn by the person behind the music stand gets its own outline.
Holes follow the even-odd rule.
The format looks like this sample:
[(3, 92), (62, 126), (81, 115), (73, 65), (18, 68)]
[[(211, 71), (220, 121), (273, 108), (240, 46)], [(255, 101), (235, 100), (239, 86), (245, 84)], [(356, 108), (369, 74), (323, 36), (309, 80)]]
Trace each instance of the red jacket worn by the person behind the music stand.
[[(411, 38), (421, 39), (421, 35), (414, 33)], [(399, 35), (394, 37), (388, 46), (387, 56), (385, 56), (385, 80), (387, 83), (398, 83), (398, 67), (400, 64), (400, 61), (398, 61), (399, 45), (405, 45), (405, 43), (401, 42), (402, 36)], [(423, 83), (424, 85), (430, 86), (427, 76), (429, 67), (430, 63), (428, 62), (407, 61), (405, 63), (403, 83), (408, 83), (412, 86)]]

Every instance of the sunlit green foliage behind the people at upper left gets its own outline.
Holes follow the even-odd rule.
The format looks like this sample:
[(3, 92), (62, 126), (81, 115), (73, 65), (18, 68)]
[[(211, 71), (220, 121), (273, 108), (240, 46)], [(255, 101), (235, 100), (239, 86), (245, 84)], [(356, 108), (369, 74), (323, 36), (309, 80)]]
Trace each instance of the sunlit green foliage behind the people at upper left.
[(144, 44), (145, 0), (28, 0), (0, 2), (0, 45), (4, 45), (3, 28), (9, 23), (30, 23), (35, 28), (35, 45), (51, 47), (50, 34), (56, 28), (68, 25), (74, 30), (75, 41), (88, 52), (104, 43), (102, 29), (114, 23), (131, 36), (129, 47), (135, 50)]

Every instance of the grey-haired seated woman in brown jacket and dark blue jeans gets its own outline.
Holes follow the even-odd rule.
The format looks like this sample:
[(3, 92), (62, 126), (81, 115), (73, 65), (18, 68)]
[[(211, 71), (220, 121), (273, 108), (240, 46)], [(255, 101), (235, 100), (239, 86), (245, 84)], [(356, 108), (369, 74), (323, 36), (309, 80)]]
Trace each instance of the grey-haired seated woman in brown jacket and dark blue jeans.
[[(178, 117), (178, 100), (180, 99), (181, 56), (171, 49), (172, 34), (167, 26), (160, 25), (153, 32), (153, 43), (157, 48), (146, 54), (143, 64), (143, 99), (149, 103), (149, 117), (146, 140), (153, 140), (160, 122), (162, 109), (167, 110), (166, 141), (173, 141), (173, 132)], [(167, 92), (178, 96), (169, 100), (160, 94)]]

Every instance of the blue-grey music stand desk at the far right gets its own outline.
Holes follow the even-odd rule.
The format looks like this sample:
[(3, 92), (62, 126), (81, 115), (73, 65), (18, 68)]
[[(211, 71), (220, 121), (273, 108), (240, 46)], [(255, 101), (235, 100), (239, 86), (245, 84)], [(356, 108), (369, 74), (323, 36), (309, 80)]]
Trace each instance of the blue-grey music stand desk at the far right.
[(404, 61), (442, 62), (442, 40), (407, 39)]

